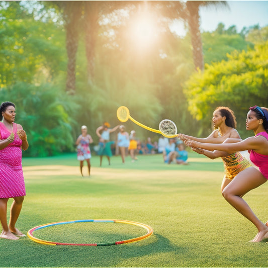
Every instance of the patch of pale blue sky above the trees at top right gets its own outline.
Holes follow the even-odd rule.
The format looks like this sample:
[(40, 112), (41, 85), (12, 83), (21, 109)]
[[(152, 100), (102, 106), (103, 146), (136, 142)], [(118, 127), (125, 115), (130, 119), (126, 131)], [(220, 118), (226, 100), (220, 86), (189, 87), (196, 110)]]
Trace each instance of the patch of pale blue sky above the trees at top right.
[(227, 1), (230, 10), (224, 7), (201, 8), (201, 31), (214, 31), (222, 22), (225, 29), (236, 25), (238, 32), (242, 28), (259, 24), (268, 26), (268, 1)]

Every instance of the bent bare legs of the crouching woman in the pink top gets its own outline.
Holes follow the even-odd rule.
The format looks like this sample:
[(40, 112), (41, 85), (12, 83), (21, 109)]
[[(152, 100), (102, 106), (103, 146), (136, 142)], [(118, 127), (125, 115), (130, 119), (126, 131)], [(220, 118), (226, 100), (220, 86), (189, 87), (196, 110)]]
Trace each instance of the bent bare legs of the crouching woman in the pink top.
[(268, 237), (268, 226), (263, 224), (241, 198), (250, 190), (253, 190), (266, 182), (266, 178), (254, 167), (248, 167), (241, 171), (223, 190), (222, 195), (227, 202), (251, 221), (258, 233), (251, 242), (260, 242)]

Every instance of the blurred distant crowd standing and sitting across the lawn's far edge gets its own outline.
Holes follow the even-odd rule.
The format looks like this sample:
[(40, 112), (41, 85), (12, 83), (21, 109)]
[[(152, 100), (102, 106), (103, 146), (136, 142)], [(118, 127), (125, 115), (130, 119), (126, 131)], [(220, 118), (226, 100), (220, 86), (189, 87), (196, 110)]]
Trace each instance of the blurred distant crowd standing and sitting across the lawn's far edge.
[[(110, 139), (110, 134), (117, 131), (116, 140)], [(108, 122), (98, 127), (96, 134), (99, 137), (98, 145), (94, 146), (94, 151), (100, 156), (100, 166), (102, 166), (103, 156), (108, 159), (111, 164), (112, 155), (121, 155), (122, 163), (125, 163), (126, 156), (130, 155), (131, 161), (138, 160), (139, 154), (162, 154), (163, 161), (167, 164), (188, 164), (188, 152), (185, 149), (185, 143), (178, 138), (168, 139), (164, 136), (159, 137), (158, 141), (152, 142), (148, 137), (142, 141), (136, 137), (136, 131), (131, 130), (130, 134), (125, 130), (124, 125), (118, 125), (114, 128), (110, 127)], [(87, 133), (87, 127), (81, 127), (81, 135), (76, 140), (77, 159), (80, 161), (80, 169), (82, 174), (83, 161), (87, 161), (88, 173), (90, 174), (90, 158), (93, 138)]]

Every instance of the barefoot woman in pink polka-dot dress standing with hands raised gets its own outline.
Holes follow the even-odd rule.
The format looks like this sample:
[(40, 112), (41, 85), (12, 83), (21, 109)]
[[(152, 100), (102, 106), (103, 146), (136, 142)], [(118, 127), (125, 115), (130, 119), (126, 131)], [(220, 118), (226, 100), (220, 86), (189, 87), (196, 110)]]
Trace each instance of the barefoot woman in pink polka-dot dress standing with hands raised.
[[(22, 209), (25, 185), (22, 171), (22, 149), (29, 147), (22, 126), (14, 123), (15, 105), (11, 102), (0, 106), (0, 221), (3, 228), (0, 238), (17, 240), (25, 236), (15, 227)], [(7, 205), (13, 198), (10, 221), (7, 222)]]

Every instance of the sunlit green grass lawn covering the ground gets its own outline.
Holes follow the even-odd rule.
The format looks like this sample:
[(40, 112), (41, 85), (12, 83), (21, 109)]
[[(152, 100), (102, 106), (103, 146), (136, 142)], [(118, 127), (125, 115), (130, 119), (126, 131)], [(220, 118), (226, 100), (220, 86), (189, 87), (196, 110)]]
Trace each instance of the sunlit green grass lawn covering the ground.
[[(189, 165), (167, 165), (161, 155), (119, 156), (111, 165), (94, 156), (91, 177), (81, 177), (75, 154), (23, 158), (27, 196), (18, 228), (83, 219), (122, 219), (147, 224), (146, 239), (112, 246), (53, 246), (0, 239), (0, 267), (267, 267), (268, 244), (248, 243), (255, 227), (221, 196), (223, 164), (194, 152)], [(86, 167), (84, 167), (86, 174)], [(268, 218), (268, 184), (245, 196), (256, 215)], [(9, 206), (12, 200), (9, 201)], [(67, 243), (112, 242), (141, 236), (129, 224), (75, 223), (34, 232)]]

